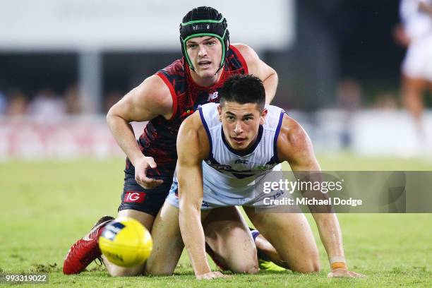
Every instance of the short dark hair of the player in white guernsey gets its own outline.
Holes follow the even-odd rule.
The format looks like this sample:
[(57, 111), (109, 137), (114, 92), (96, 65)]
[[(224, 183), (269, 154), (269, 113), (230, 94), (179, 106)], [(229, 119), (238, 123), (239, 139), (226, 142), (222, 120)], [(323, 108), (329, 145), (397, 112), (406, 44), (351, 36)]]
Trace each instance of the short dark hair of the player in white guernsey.
[(253, 75), (237, 74), (225, 81), (219, 92), (220, 105), (225, 101), (239, 104), (256, 103), (258, 109), (263, 111), (265, 105), (265, 90), (263, 81)]

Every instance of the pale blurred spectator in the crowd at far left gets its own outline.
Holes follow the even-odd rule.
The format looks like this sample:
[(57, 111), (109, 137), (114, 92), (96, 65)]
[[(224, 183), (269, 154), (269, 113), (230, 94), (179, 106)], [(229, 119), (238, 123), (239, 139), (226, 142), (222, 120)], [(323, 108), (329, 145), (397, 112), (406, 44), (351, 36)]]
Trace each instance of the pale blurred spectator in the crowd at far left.
[(66, 114), (66, 103), (52, 89), (44, 89), (37, 92), (28, 111), (38, 120), (57, 121)]

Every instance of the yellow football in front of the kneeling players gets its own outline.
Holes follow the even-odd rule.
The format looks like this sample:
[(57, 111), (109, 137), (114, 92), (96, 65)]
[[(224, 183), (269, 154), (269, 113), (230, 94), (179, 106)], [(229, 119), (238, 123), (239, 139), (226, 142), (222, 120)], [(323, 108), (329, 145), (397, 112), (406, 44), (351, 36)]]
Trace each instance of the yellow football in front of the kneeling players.
[(147, 260), (153, 241), (143, 224), (130, 217), (120, 217), (104, 227), (99, 248), (109, 262), (133, 267)]

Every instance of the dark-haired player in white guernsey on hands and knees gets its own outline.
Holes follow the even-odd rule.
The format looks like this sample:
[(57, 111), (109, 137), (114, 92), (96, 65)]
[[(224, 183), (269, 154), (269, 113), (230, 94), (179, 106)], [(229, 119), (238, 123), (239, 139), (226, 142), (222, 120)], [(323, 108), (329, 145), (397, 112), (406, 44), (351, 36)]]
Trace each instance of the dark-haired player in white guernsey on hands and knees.
[[(275, 263), (297, 272), (319, 271), (318, 248), (306, 217), (301, 213), (256, 212), (259, 197), (254, 198), (251, 193), (251, 183), (259, 181), (279, 162), (287, 161), (293, 172), (319, 171), (311, 140), (282, 109), (264, 106), (264, 88), (254, 76), (230, 78), (220, 96), (220, 105), (203, 105), (181, 125), (176, 167), (179, 198), (173, 187), (164, 205), (165, 209), (167, 203), (172, 208), (179, 207), (181, 236), (196, 277), (223, 277), (221, 272), (212, 272), (208, 265), (205, 241), (221, 241), (217, 239), (221, 235), (215, 239), (208, 236), (205, 217), (212, 209), (230, 205), (243, 205), (251, 222), (275, 247), (276, 253), (272, 255)], [(169, 211), (178, 211), (172, 208)], [(332, 271), (328, 276), (363, 276), (347, 269), (335, 213), (313, 213), (313, 218), (330, 261)], [(245, 229), (241, 225), (234, 228)], [(233, 227), (227, 227), (230, 229)], [(248, 243), (236, 243), (234, 239), (224, 245), (232, 245), (232, 251), (243, 251), (240, 260), (244, 265), (256, 261), (248, 251)], [(232, 261), (232, 255), (224, 257), (222, 260)], [(256, 265), (251, 263), (249, 267)], [(256, 270), (244, 269), (244, 272)]]

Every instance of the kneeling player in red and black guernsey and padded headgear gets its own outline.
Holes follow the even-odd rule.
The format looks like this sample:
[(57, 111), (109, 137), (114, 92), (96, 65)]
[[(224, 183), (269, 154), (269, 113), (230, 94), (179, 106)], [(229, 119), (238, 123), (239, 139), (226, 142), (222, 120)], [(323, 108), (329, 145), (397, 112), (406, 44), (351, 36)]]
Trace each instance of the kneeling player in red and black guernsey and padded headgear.
[[(132, 217), (149, 231), (172, 185), (177, 160), (176, 136), (181, 122), (201, 104), (219, 102), (218, 91), (234, 74), (253, 74), (260, 78), (267, 104), (277, 88), (277, 73), (251, 47), (230, 44), (227, 20), (214, 8), (203, 6), (189, 11), (180, 25), (180, 42), (184, 55), (181, 59), (145, 79), (107, 114), (112, 135), (127, 155), (118, 216)], [(138, 141), (130, 125), (132, 121), (148, 121)], [(236, 221), (242, 219), (236, 208), (224, 209)], [(101, 257), (97, 238), (112, 219), (102, 217), (89, 234), (73, 244), (64, 261), (65, 274), (79, 273), (92, 260)], [(164, 224), (164, 217), (159, 219)], [(251, 238), (251, 235), (241, 236)], [(102, 258), (112, 276), (143, 273), (143, 265), (122, 268)], [(163, 274), (158, 268), (150, 270)]]

